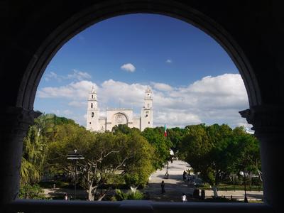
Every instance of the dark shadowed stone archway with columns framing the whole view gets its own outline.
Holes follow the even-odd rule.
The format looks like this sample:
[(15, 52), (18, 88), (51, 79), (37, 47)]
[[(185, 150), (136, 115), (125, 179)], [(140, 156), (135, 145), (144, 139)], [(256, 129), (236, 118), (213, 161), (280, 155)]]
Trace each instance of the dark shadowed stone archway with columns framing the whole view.
[[(283, 173), (283, 147), (280, 142), (284, 140), (284, 62), (281, 53), (284, 43), (282, 7), (275, 1), (255, 4), (253, 1), (107, 0), (95, 3), (70, 1), (66, 4), (58, 0), (56, 4), (46, 1), (33, 5), (25, 1), (17, 6), (8, 2), (1, 4), (8, 8), (1, 13), (8, 17), (3, 18), (5, 23), (1, 25), (4, 37), (1, 42), (6, 51), (0, 62), (3, 70), (0, 87), (5, 99), (1, 106), (0, 172), (4, 179), (0, 183), (1, 203), (9, 204), (16, 199), (23, 136), (36, 116), (33, 112), (35, 92), (53, 55), (72, 36), (96, 22), (127, 13), (158, 13), (180, 18), (211, 35), (238, 67), (251, 107), (243, 111), (242, 116), (253, 124), (261, 140), (266, 202), (281, 212), (282, 192), (279, 185), (283, 177), (279, 174)], [(18, 203), (21, 207), (26, 205), (26, 209), (30, 204)], [(51, 209), (59, 207), (52, 202), (50, 205)], [(210, 207), (221, 212), (271, 210), (266, 205)], [(208, 212), (210, 207), (197, 205), (192, 208)], [(107, 208), (114, 211), (114, 207)], [(176, 205), (172, 212), (178, 208)], [(80, 205), (77, 209), (73, 205), (69, 209), (74, 212), (80, 209)], [(132, 209), (136, 207), (133, 205)], [(163, 205), (160, 210), (163, 211)], [(151, 212), (153, 206), (146, 206), (143, 211)]]

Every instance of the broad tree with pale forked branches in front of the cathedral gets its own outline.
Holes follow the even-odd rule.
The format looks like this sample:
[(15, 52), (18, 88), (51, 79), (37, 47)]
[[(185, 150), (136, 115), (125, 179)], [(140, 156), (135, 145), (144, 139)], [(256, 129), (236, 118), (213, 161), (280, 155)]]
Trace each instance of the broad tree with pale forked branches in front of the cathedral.
[[(77, 149), (84, 156), (78, 160), (81, 185), (87, 190), (88, 200), (94, 200), (97, 189), (114, 184), (116, 176), (134, 175), (131, 184), (145, 185), (153, 171), (153, 147), (140, 133), (92, 133), (83, 127), (63, 124), (57, 127), (55, 141), (50, 143), (50, 166), (65, 173), (74, 172), (74, 164), (66, 160), (68, 151)], [(127, 178), (126, 178), (127, 179)], [(102, 200), (103, 193), (97, 197)]]

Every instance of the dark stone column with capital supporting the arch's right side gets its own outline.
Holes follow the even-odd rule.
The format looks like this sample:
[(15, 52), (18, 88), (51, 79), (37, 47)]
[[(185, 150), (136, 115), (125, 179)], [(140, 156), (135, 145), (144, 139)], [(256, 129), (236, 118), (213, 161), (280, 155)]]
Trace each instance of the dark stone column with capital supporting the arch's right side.
[(283, 207), (284, 186), (284, 106), (257, 106), (240, 111), (261, 145), (264, 201), (276, 212)]

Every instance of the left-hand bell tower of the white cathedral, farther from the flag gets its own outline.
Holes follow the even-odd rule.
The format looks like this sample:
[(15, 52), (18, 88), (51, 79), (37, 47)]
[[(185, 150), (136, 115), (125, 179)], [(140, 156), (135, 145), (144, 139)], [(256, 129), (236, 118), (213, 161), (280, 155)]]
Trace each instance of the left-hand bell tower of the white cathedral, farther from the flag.
[(87, 130), (99, 131), (99, 109), (97, 106), (97, 92), (92, 87), (89, 92), (87, 107)]

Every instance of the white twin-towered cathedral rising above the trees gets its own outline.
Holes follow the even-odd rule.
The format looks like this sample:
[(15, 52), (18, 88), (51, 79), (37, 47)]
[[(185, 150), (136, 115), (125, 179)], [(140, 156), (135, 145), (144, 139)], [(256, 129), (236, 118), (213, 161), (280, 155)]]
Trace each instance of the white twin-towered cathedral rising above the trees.
[(141, 116), (133, 116), (133, 109), (107, 108), (107, 116), (99, 116), (97, 93), (92, 88), (89, 92), (87, 107), (87, 130), (89, 131), (111, 131), (119, 124), (126, 124), (130, 128), (136, 127), (143, 131), (146, 127), (153, 127), (153, 98), (152, 90), (148, 87), (145, 91), (144, 106)]

